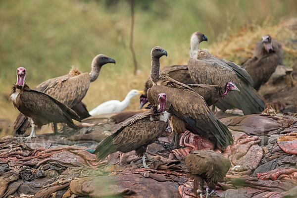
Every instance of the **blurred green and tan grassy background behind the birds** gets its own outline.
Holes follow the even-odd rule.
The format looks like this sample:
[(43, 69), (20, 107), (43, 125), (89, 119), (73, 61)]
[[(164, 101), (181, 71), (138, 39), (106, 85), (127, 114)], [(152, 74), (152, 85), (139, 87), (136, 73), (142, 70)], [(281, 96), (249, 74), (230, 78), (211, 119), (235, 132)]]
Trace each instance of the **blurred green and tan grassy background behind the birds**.
[[(18, 113), (7, 101), (17, 67), (27, 69), (26, 82), (34, 88), (67, 74), (71, 65), (90, 72), (99, 53), (113, 57), (116, 65), (103, 66), (84, 99), (91, 110), (103, 101), (123, 99), (131, 89), (143, 89), (154, 46), (168, 51), (161, 65), (186, 63), (193, 32), (207, 35), (208, 43), (201, 47), (216, 51), (217, 44), (248, 24), (269, 30), (296, 17), (296, 7), (296, 0), (135, 0), (134, 48), (140, 72), (133, 76), (128, 0), (0, 1), (0, 118), (13, 121)], [(240, 63), (237, 56), (226, 58)], [(138, 97), (132, 103), (129, 108), (137, 108)]]

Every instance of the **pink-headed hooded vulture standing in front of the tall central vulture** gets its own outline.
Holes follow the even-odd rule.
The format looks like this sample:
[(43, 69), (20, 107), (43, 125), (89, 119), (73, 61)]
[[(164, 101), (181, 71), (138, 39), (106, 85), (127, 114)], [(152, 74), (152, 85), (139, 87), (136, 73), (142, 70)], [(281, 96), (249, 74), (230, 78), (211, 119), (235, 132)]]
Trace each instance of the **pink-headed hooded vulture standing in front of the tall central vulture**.
[(128, 120), (114, 134), (99, 143), (94, 151), (99, 160), (115, 151), (135, 150), (138, 156), (142, 156), (144, 167), (148, 168), (145, 161), (145, 154), (149, 160), (147, 147), (166, 130), (170, 116), (165, 110), (167, 95), (158, 94), (156, 99), (157, 105), (152, 105), (148, 111)]

